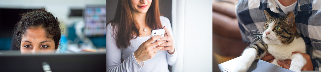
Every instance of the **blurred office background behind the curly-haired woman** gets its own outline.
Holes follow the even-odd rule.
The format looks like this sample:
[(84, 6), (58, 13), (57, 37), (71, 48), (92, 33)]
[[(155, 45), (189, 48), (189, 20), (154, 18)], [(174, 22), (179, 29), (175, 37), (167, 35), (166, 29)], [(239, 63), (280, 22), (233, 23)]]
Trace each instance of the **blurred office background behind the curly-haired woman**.
[(13, 49), (19, 14), (42, 7), (63, 29), (58, 53), (106, 52), (106, 0), (1, 0), (0, 50)]

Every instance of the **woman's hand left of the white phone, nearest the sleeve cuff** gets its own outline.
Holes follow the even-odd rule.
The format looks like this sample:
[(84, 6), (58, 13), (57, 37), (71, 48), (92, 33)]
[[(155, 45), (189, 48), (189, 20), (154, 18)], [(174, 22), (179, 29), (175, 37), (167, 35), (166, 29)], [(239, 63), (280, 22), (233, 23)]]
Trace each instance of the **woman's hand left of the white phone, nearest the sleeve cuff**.
[[(153, 41), (160, 39), (160, 38), (162, 38), (161, 35), (153, 36), (153, 37), (149, 38), (147, 41), (143, 42), (143, 44), (141, 44), (138, 47), (138, 49), (134, 52), (134, 56), (135, 56), (138, 63), (152, 59), (157, 54), (157, 52), (155, 52), (155, 51), (158, 51), (158, 50), (164, 48), (164, 46), (156, 47), (157, 45), (165, 43), (164, 41), (157, 41), (157, 42), (151, 44)], [(156, 48), (154, 48), (154, 47), (156, 47)]]

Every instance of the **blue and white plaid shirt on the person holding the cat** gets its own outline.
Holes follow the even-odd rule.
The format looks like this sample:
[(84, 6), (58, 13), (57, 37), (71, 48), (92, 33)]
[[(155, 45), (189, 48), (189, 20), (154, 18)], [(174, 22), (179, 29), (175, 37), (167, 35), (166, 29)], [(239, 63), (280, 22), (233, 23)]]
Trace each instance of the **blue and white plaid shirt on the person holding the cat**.
[[(266, 20), (264, 10), (273, 17), (286, 16), (274, 0), (240, 0), (238, 2), (236, 13), (244, 42), (250, 43), (257, 40), (248, 36), (255, 33), (251, 30), (263, 30)], [(310, 55), (314, 70), (321, 70), (321, 0), (298, 0), (292, 12), (295, 15), (297, 32), (305, 41), (306, 51)]]

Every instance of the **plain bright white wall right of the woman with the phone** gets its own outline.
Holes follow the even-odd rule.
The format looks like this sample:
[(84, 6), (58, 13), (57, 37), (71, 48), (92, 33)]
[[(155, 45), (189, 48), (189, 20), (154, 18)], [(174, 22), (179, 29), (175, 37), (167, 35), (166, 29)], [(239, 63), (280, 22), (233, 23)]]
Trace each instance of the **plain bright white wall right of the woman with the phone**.
[(212, 0), (185, 0), (183, 72), (212, 72)]

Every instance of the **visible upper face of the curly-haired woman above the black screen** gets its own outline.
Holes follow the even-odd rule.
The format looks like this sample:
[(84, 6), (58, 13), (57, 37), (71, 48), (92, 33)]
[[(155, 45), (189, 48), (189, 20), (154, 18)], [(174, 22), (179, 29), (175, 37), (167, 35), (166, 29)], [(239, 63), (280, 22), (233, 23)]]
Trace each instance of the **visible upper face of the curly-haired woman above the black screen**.
[(46, 34), (41, 27), (27, 29), (21, 38), (21, 54), (55, 53), (55, 42)]

